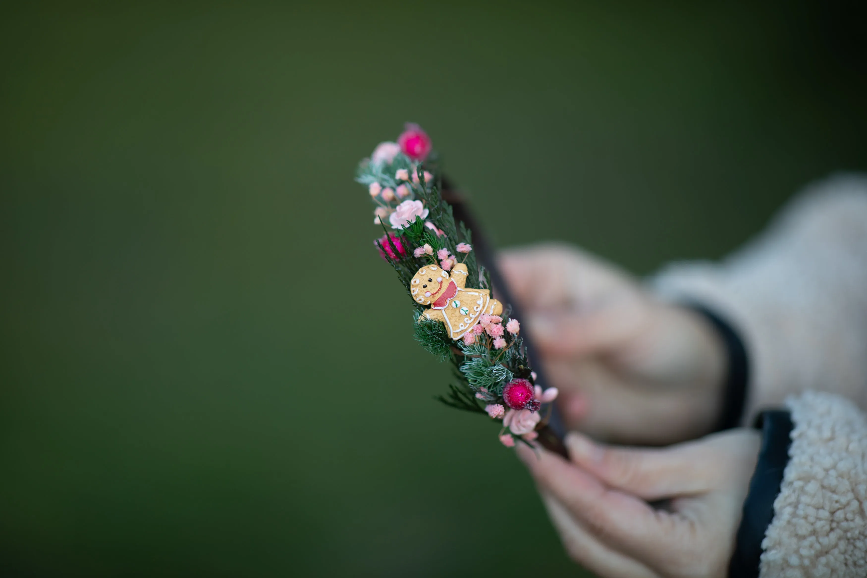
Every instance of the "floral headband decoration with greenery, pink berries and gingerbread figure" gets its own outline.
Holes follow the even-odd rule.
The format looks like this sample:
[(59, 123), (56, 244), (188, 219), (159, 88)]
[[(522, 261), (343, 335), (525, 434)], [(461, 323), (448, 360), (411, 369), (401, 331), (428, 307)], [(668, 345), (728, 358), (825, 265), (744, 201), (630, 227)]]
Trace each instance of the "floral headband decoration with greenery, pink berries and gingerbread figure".
[(440, 195), (439, 156), (427, 133), (407, 123), (397, 142), (362, 160), (355, 180), (368, 187), (374, 224), (385, 233), (374, 244), (412, 300), (415, 340), (453, 364), (455, 382), (437, 399), (501, 422), (507, 447), (559, 445), (548, 426), (557, 389), (536, 383), (520, 323), (491, 295), (471, 231)]

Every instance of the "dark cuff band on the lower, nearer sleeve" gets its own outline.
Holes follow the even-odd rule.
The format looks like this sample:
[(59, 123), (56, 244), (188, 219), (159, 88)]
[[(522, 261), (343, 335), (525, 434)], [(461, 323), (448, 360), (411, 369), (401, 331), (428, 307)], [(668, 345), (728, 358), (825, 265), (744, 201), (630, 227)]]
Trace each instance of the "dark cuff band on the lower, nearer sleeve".
[(773, 501), (779, 495), (783, 471), (789, 463), (789, 447), (792, 445), (792, 416), (789, 412), (761, 412), (755, 427), (762, 431), (761, 449), (744, 501), (734, 553), (728, 566), (729, 578), (758, 578), (761, 542), (773, 520)]

